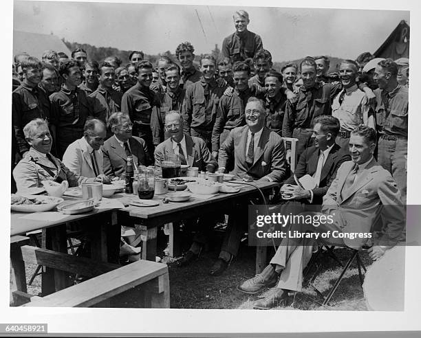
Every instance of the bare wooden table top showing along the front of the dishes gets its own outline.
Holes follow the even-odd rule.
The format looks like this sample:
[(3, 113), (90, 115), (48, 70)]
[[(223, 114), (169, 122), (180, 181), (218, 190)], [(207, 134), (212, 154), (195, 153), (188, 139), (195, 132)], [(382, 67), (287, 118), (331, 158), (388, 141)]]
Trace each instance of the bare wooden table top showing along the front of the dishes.
[[(268, 190), (278, 185), (278, 183), (267, 181), (254, 181), (251, 182), (251, 184), (257, 186), (261, 190)], [(199, 205), (212, 204), (215, 203), (215, 201), (235, 199), (241, 196), (247, 196), (250, 193), (257, 192), (257, 189), (250, 185), (239, 185), (239, 187), (240, 186), (241, 190), (233, 194), (219, 193), (215, 196), (210, 197), (209, 199), (200, 199), (196, 198), (195, 196), (192, 196), (190, 201), (186, 202), (162, 203), (162, 199), (164, 199), (165, 195), (155, 195), (153, 197), (153, 201), (157, 201), (160, 203), (155, 207), (136, 207), (133, 205), (129, 205), (131, 200), (138, 199), (138, 196), (134, 194), (114, 194), (111, 200), (117, 200), (120, 201), (123, 205), (128, 205), (127, 207), (121, 210), (124, 212), (128, 212), (130, 216), (139, 218), (153, 218), (157, 216), (162, 216), (164, 214), (182, 212), (183, 210), (188, 210)], [(65, 197), (65, 199), (67, 200), (72, 198)], [(53, 227), (67, 222), (79, 221), (84, 218), (91, 218), (96, 214), (102, 214), (111, 210), (114, 209), (94, 209), (91, 212), (76, 215), (65, 215), (54, 211), (36, 213), (11, 212), (10, 236), (26, 234), (28, 232), (43, 229), (46, 227)]]

